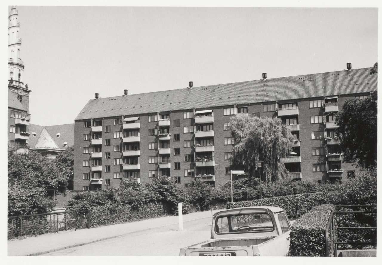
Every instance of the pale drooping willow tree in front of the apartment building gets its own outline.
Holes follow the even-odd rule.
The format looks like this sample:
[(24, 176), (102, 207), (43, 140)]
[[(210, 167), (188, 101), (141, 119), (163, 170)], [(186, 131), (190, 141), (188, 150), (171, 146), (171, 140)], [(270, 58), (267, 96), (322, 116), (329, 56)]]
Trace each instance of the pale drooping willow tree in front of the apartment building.
[(256, 161), (264, 161), (261, 179), (279, 181), (288, 177), (288, 171), (279, 157), (287, 156), (294, 146), (290, 130), (278, 118), (235, 116), (230, 120), (235, 146), (232, 165), (244, 165), (249, 178), (258, 173)]

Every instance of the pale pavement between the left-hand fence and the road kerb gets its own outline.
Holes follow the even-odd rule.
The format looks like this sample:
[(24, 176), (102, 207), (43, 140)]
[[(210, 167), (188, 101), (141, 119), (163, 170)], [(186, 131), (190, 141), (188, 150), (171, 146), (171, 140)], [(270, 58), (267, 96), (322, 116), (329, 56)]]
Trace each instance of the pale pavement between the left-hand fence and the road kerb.
[[(214, 213), (217, 211), (219, 210), (214, 210)], [(183, 222), (210, 216), (211, 211), (194, 212), (183, 215)], [(8, 256), (41, 255), (177, 223), (178, 216), (165, 216), (118, 225), (100, 226), (90, 229), (85, 228), (77, 231), (68, 230), (24, 239), (14, 239), (8, 241)]]

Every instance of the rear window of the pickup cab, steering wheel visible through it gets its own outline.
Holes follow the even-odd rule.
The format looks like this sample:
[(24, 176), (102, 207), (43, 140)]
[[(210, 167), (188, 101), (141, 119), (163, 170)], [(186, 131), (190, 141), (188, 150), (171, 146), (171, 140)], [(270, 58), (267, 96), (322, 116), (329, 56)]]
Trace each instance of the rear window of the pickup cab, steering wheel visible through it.
[(273, 231), (272, 217), (267, 213), (236, 214), (218, 217), (217, 234)]

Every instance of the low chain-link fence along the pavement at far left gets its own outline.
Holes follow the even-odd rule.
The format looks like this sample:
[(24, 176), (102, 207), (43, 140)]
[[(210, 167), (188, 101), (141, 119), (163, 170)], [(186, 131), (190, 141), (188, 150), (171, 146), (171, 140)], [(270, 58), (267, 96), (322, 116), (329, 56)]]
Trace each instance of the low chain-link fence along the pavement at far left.
[(8, 240), (23, 236), (89, 228), (89, 212), (76, 211), (30, 214), (8, 217)]

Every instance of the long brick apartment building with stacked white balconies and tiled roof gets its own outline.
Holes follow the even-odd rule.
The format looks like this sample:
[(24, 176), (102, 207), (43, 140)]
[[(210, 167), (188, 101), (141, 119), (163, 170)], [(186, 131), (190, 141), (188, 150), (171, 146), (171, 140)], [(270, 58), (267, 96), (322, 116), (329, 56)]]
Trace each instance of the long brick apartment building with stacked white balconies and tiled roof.
[(346, 69), (231, 84), (89, 100), (74, 121), (74, 190), (118, 187), (128, 178), (147, 183), (174, 177), (218, 186), (230, 180), (228, 123), (235, 115), (279, 117), (295, 137), (280, 157), (289, 177), (316, 183), (346, 181), (356, 168), (344, 162), (333, 117), (344, 102), (377, 90), (371, 68)]

